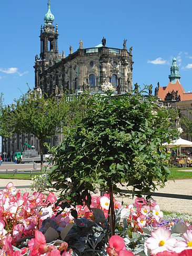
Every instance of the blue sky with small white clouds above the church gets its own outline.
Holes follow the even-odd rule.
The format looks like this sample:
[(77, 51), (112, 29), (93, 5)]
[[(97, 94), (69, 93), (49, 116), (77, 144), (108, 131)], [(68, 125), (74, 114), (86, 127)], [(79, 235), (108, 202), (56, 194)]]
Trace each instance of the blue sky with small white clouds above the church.
[[(0, 92), (9, 104), (34, 87), (35, 55), (40, 53), (40, 27), (48, 0), (7, 0), (1, 3)], [(192, 1), (185, 0), (50, 0), (58, 23), (58, 49), (65, 56), (79, 41), (94, 47), (103, 36), (106, 46), (133, 46), (133, 84), (167, 86), (175, 55), (186, 92), (192, 91)]]

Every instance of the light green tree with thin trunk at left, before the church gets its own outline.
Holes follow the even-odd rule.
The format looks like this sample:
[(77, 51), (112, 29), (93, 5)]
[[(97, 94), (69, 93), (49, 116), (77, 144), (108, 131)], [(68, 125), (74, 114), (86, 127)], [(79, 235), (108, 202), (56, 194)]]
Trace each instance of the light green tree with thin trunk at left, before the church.
[[(58, 127), (74, 126), (70, 112), (72, 103), (66, 100), (66, 94), (57, 100), (47, 95), (39, 96), (36, 91), (22, 95), (12, 106), (1, 106), (1, 135), (9, 137), (14, 133), (32, 133), (39, 140), (41, 149), (41, 171), (43, 170), (43, 143), (47, 137), (53, 137)], [(78, 102), (74, 99), (74, 112), (79, 112)], [(83, 113), (83, 112), (82, 112)], [(80, 119), (80, 114), (78, 115)], [(78, 119), (76, 120), (78, 123)]]

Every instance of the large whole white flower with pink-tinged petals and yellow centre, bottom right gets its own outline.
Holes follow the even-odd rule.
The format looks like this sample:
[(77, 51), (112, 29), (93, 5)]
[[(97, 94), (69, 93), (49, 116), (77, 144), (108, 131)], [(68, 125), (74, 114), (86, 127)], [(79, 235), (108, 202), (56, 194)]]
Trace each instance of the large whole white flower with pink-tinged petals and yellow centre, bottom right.
[(177, 240), (170, 238), (170, 231), (165, 227), (159, 227), (151, 232), (151, 237), (146, 240), (146, 246), (151, 250), (151, 254), (163, 251), (172, 251)]

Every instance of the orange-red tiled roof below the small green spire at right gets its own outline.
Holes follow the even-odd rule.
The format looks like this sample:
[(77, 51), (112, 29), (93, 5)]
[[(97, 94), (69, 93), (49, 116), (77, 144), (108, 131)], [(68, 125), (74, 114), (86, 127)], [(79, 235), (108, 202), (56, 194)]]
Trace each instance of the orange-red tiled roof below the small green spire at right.
[(192, 93), (186, 93), (183, 86), (181, 84), (179, 84), (178, 81), (176, 81), (175, 84), (171, 84), (171, 82), (169, 82), (167, 87), (166, 86), (159, 87), (158, 97), (162, 101), (164, 101), (167, 93), (168, 92), (171, 93), (173, 90), (175, 92), (178, 91), (178, 95), (180, 95), (181, 101), (191, 101), (192, 100)]

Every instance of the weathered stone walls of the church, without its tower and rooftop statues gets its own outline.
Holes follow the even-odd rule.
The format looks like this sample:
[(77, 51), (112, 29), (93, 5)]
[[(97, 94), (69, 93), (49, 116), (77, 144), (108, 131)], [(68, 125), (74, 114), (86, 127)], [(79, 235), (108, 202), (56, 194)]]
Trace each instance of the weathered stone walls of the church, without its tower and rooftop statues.
[[(48, 54), (47, 54), (48, 55)], [(41, 56), (41, 54), (40, 54)], [(132, 92), (132, 55), (126, 49), (106, 46), (78, 49), (63, 58), (35, 61), (35, 88), (48, 95), (78, 93), (84, 90), (100, 91), (109, 81), (120, 92)]]

